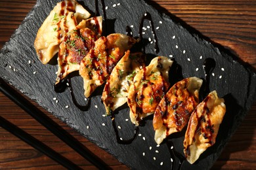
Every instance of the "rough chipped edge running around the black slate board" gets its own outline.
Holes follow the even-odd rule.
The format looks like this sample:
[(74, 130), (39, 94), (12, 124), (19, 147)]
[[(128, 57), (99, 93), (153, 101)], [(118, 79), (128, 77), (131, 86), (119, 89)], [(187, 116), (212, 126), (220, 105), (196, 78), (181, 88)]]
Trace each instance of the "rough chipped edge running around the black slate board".
[[(141, 3), (145, 3), (146, 5), (148, 5), (148, 3), (146, 3), (146, 2), (143, 1), (143, 0), (139, 0), (139, 1), (140, 1)], [(35, 10), (35, 9), (37, 8), (37, 6), (39, 6), (39, 5), (41, 5), (41, 4), (39, 4), (39, 1), (37, 1), (36, 5), (33, 7), (33, 9), (28, 13), (28, 15), (26, 16), (26, 18), (24, 19), (24, 21), (22, 21), (22, 24), (21, 24), (21, 25), (23, 25), (24, 23), (26, 23), (27, 20), (30, 20), (30, 17), (33, 16), (34, 10)], [(152, 7), (152, 5), (149, 5), (149, 6)], [(154, 7), (152, 7), (152, 9), (154, 9)], [(171, 17), (168, 16), (167, 14), (160, 13), (160, 12), (159, 12), (158, 10), (156, 10), (156, 9), (154, 9), (154, 10), (155, 10), (162, 18), (165, 18), (165, 19), (167, 19), (167, 20), (171, 20)], [(171, 22), (173, 22), (173, 20), (171, 20)], [(180, 27), (181, 29), (184, 29), (185, 31), (188, 31), (188, 29), (186, 29), (186, 27), (182, 27), (182, 25), (180, 25), (179, 23), (175, 23), (175, 24), (179, 25), (179, 27)], [(6, 52), (9, 52), (9, 51), (8, 51), (8, 45), (9, 45), (9, 43), (12, 41), (12, 39), (14, 39), (15, 37), (17, 37), (17, 36), (20, 34), (20, 32), (21, 32), (20, 29), (22, 29), (21, 25), (18, 27), (18, 29), (16, 29), (16, 31), (14, 31), (14, 33), (12, 34), (11, 39), (9, 40), (9, 42), (6, 42), (6, 43), (5, 43), (5, 45), (4, 45), (3, 48), (1, 49), (1, 54), (4, 55)], [(188, 31), (188, 32), (190, 33), (190, 31)], [(190, 33), (190, 34), (191, 34), (191, 33)], [(216, 46), (214, 46), (213, 44), (211, 44), (211, 42), (205, 41), (204, 39), (200, 38), (198, 35), (195, 35), (195, 34), (192, 33), (192, 37), (194, 37), (194, 39), (196, 39), (198, 42), (202, 43), (203, 45), (211, 46), (211, 48), (212, 48), (217, 54), (222, 55), (222, 56), (223, 56), (224, 58), (226, 58), (228, 61), (233, 61), (233, 62), (236, 62), (236, 64), (241, 64), (241, 65), (243, 65), (243, 67), (244, 67), (245, 69), (247, 69), (247, 71), (249, 72), (249, 75), (250, 75), (250, 77), (251, 77), (251, 82), (252, 82), (251, 84), (253, 84), (253, 82), (256, 82), (256, 74), (255, 74), (250, 68), (245, 67), (245, 65), (244, 65), (243, 63), (240, 63), (239, 61), (237, 61), (236, 59), (234, 59), (234, 58), (232, 58), (231, 56), (227, 55), (226, 53), (221, 52), (221, 51), (219, 50), (219, 48), (217, 48)], [(32, 94), (24, 92), (24, 90), (22, 90), (22, 87), (19, 87), (17, 84), (15, 84), (14, 81), (12, 81), (11, 79), (8, 79), (7, 77), (2, 77), (2, 78), (3, 78), (6, 82), (8, 82), (9, 84), (13, 84), (13, 86), (14, 86), (14, 88), (16, 88), (16, 90), (19, 90), (20, 92), (24, 93), (24, 95), (28, 96), (30, 99), (32, 99), (32, 100), (34, 100), (35, 102), (37, 102), (40, 106), (43, 106), (43, 103), (40, 103), (40, 101), (35, 100), (35, 97), (34, 97)], [(254, 89), (254, 92), (253, 92), (252, 95), (249, 95), (249, 96), (248, 96), (248, 99), (249, 99), (249, 98), (251, 98), (251, 100), (249, 100), (249, 101), (251, 101), (251, 102), (246, 103), (246, 106), (245, 106), (246, 109), (244, 110), (244, 113), (245, 113), (245, 114), (243, 114), (243, 117), (242, 117), (242, 119), (241, 119), (240, 122), (242, 122), (242, 120), (243, 120), (244, 117), (246, 116), (248, 110), (251, 108), (251, 105), (253, 104), (253, 102), (254, 102), (255, 99), (256, 99), (256, 89)], [(48, 108), (46, 108), (46, 107), (43, 107), (43, 108), (46, 109), (47, 111), (51, 112), (51, 114), (53, 114), (56, 118), (59, 118), (60, 120), (62, 120), (62, 122), (65, 122), (66, 124), (68, 124), (68, 126), (70, 126), (70, 127), (72, 127), (73, 129), (75, 129), (75, 127), (72, 126), (72, 124), (69, 124), (68, 122), (66, 122), (66, 121), (64, 120), (64, 118), (62, 118), (62, 117), (60, 117), (60, 116), (54, 114), (54, 112), (52, 112), (51, 109), (48, 109)], [(240, 124), (240, 122), (238, 122), (238, 124)], [(236, 127), (236, 129), (237, 129), (237, 127)], [(234, 131), (232, 132), (232, 134), (236, 131), (236, 129), (234, 129)], [(78, 131), (79, 133), (81, 133), (81, 135), (85, 136), (85, 134), (83, 134), (83, 133), (82, 133), (81, 131), (79, 131), (78, 129), (75, 129), (75, 130)], [(89, 137), (87, 137), (87, 139), (89, 139)], [(228, 139), (228, 140), (229, 140), (229, 139)], [(91, 140), (91, 139), (89, 139), (89, 141), (91, 141), (91, 142), (95, 143), (96, 145), (98, 145), (98, 144), (96, 143), (96, 141), (93, 141), (93, 140)], [(225, 144), (227, 144), (227, 143), (225, 143)], [(99, 146), (99, 145), (98, 145), (98, 146)], [(100, 146), (100, 148), (102, 148), (102, 146)], [(106, 150), (107, 152), (109, 152), (110, 154), (112, 154), (111, 151), (108, 150), (108, 148), (103, 148), (103, 149)], [(221, 152), (219, 152), (219, 153), (221, 153)], [(114, 156), (115, 156), (115, 155), (114, 155)], [(117, 158), (117, 156), (115, 156), (115, 157)], [(219, 155), (217, 155), (217, 157), (215, 157), (215, 158), (216, 158), (215, 160), (217, 160), (218, 157), (219, 157)], [(122, 162), (123, 162), (123, 161), (122, 161)]]

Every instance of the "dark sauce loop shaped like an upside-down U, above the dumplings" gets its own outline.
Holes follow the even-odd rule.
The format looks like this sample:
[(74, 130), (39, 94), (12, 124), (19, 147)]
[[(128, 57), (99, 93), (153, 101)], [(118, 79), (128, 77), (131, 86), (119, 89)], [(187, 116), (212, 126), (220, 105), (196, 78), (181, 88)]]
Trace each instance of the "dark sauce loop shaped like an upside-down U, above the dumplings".
[[(146, 12), (144, 14), (144, 16), (142, 16), (141, 21), (140, 21), (140, 27), (139, 27), (139, 35), (140, 35), (140, 41), (142, 41), (143, 37), (142, 37), (142, 27), (143, 27), (143, 23), (144, 20), (149, 20), (151, 28), (152, 28), (152, 33), (153, 33), (153, 37), (154, 37), (154, 42), (155, 42), (155, 46), (154, 46), (154, 50), (156, 52), (156, 54), (158, 54), (159, 50), (159, 46), (158, 46), (158, 37), (156, 36), (156, 30), (154, 27), (154, 22), (152, 20), (151, 14), (149, 12)], [(143, 43), (143, 41), (142, 41)], [(142, 47), (142, 53), (145, 52), (145, 45), (143, 44)]]

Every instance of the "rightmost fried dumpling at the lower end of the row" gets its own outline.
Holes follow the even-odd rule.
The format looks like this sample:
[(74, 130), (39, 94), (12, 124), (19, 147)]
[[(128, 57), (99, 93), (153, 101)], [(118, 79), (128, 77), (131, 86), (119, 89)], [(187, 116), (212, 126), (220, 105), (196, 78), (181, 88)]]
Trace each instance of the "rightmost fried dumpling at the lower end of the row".
[(213, 91), (192, 112), (184, 139), (184, 154), (189, 163), (198, 160), (207, 148), (215, 144), (226, 106), (224, 99)]

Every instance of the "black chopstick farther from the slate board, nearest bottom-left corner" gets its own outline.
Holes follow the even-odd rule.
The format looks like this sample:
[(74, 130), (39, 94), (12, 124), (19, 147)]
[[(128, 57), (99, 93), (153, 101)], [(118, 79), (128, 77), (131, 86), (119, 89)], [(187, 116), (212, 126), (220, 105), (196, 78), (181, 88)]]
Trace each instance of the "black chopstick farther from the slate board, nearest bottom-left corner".
[(53, 149), (49, 148), (49, 146), (41, 143), (39, 140), (35, 139), (32, 135), (26, 133), (22, 129), (18, 128), (2, 116), (0, 116), (0, 126), (3, 129), (6, 129), (16, 137), (20, 138), (22, 141), (30, 144), (33, 148), (39, 150), (43, 154), (49, 156), (49, 158), (53, 159), (54, 161), (58, 162), (60, 165), (68, 168), (68, 169), (81, 169), (77, 165), (75, 165), (72, 161), (68, 160), (64, 156), (61, 156)]

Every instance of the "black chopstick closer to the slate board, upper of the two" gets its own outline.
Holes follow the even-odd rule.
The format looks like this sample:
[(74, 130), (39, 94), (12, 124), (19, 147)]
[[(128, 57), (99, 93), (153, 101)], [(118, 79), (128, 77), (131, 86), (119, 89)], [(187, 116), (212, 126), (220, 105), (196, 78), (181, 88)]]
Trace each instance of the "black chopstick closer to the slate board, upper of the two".
[(28, 112), (37, 122), (45, 126), (56, 137), (61, 139), (64, 143), (68, 144), (78, 154), (83, 156), (86, 160), (90, 161), (98, 167), (98, 169), (110, 169), (104, 161), (100, 160), (90, 150), (85, 148), (83, 144), (79, 143), (72, 135), (66, 132), (62, 127), (58, 126), (51, 118), (47, 117), (41, 110), (32, 105), (25, 97), (20, 93), (13, 90), (4, 80), (0, 78), (0, 91), (3, 92), (9, 99), (11, 99), (16, 105)]

